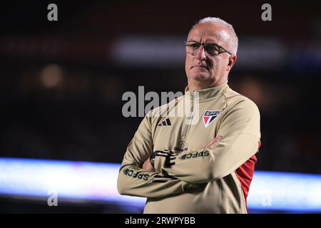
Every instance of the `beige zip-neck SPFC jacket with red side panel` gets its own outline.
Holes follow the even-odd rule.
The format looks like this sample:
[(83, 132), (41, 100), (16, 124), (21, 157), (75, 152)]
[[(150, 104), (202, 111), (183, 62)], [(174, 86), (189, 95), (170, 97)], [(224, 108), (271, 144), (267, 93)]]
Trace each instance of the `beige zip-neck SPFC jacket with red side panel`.
[[(205, 148), (217, 135), (223, 138)], [(196, 92), (186, 88), (139, 125), (123, 157), (118, 192), (147, 197), (144, 213), (247, 213), (259, 147), (260, 113), (253, 101), (227, 83)], [(163, 151), (156, 171), (143, 170), (156, 150)]]

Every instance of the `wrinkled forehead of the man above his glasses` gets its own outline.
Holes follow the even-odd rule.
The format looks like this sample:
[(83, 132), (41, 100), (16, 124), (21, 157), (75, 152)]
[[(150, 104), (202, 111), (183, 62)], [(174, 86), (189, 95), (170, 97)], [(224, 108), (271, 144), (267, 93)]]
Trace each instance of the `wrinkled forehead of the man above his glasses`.
[(188, 34), (188, 41), (218, 43), (224, 45), (230, 40), (228, 28), (220, 24), (203, 23), (195, 26)]

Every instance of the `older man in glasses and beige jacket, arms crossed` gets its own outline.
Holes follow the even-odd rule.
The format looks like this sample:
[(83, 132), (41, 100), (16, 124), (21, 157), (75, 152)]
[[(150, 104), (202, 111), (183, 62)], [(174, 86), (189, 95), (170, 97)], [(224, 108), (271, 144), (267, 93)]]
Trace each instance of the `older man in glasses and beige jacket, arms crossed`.
[(228, 86), (237, 49), (233, 27), (221, 19), (202, 19), (190, 30), (188, 87), (170, 102), (175, 108), (190, 103), (190, 113), (181, 118), (155, 115), (162, 106), (151, 110), (129, 143), (118, 175), (121, 195), (147, 197), (144, 213), (248, 212), (260, 113)]

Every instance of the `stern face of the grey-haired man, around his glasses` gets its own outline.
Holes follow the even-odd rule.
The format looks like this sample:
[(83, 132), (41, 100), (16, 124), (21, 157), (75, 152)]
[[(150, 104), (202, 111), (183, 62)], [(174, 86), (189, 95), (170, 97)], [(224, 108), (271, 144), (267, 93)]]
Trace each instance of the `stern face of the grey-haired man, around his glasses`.
[[(212, 24), (205, 22), (195, 26), (188, 35), (188, 42), (195, 41), (198, 43), (215, 43), (229, 50), (230, 33), (228, 28), (221, 24)], [(206, 53), (204, 46), (200, 46), (198, 52), (193, 55), (186, 53), (185, 71), (188, 80), (203, 81), (211, 86), (218, 86), (228, 80), (228, 72), (232, 68), (229, 53), (218, 53), (210, 56)]]

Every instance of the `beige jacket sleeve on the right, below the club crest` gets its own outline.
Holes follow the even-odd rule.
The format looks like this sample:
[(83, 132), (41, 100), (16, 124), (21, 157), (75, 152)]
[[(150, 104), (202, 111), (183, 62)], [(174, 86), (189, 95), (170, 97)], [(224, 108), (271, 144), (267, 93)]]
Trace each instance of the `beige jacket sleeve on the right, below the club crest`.
[[(219, 120), (223, 137), (211, 148), (156, 156), (156, 171), (189, 183), (211, 182), (229, 175), (258, 151), (260, 113), (251, 100), (230, 108)], [(215, 137), (216, 137), (215, 136)]]

